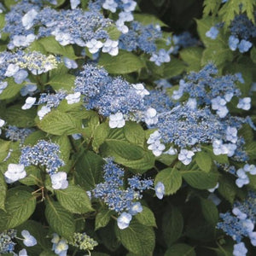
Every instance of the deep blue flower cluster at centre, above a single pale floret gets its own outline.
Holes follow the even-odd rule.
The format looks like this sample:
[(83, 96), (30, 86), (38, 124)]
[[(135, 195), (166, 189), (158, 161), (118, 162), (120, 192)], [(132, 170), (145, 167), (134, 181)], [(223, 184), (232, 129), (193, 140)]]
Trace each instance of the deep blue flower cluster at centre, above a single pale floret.
[[(106, 70), (85, 65), (75, 80), (75, 92), (84, 96), (84, 106), (96, 109), (103, 116), (118, 113), (115, 120), (146, 110), (143, 97), (148, 94), (143, 84), (130, 84), (121, 77), (112, 78)], [(129, 99), (129, 100), (127, 100)]]

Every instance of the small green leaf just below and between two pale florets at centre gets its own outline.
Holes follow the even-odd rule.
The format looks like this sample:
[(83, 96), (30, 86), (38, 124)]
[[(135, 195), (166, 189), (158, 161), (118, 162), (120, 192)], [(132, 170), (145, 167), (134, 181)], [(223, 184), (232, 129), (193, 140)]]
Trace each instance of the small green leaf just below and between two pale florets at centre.
[(124, 129), (125, 138), (130, 143), (143, 147), (145, 142), (145, 134), (143, 127), (135, 122), (126, 122)]

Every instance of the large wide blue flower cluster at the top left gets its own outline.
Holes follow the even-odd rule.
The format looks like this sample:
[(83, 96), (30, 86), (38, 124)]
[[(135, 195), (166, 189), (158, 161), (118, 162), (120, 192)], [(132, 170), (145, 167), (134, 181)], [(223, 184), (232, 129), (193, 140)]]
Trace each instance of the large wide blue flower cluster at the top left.
[(57, 11), (43, 8), (40, 3), (22, 0), (6, 15), (3, 32), (9, 33), (9, 49), (26, 47), (36, 38), (49, 36), (55, 36), (61, 45), (78, 44), (81, 47), (91, 40), (100, 42), (98, 40), (106, 41), (109, 38), (106, 28), (112, 21), (105, 19), (100, 12), (82, 9)]

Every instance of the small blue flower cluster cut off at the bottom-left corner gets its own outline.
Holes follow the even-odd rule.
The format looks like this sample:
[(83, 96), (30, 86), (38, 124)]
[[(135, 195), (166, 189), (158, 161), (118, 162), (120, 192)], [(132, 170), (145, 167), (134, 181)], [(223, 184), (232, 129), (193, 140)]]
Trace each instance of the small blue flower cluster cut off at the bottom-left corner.
[(13, 253), (15, 249), (15, 242), (13, 239), (16, 236), (16, 230), (5, 230), (0, 233), (0, 253)]

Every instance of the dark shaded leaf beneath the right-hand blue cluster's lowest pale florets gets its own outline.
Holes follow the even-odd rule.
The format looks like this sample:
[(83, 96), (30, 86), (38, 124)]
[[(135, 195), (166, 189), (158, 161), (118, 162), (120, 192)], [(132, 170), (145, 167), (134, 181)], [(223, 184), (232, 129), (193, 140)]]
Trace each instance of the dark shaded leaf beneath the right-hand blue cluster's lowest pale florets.
[(212, 189), (218, 182), (218, 172), (181, 171), (184, 180), (195, 189)]

